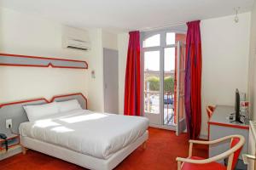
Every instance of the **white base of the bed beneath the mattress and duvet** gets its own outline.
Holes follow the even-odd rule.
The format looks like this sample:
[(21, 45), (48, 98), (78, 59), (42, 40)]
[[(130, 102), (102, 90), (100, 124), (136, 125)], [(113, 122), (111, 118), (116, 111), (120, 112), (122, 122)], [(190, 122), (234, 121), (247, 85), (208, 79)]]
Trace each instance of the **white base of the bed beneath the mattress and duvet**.
[(24, 147), (37, 150), (49, 156), (60, 158), (64, 161), (72, 162), (81, 167), (95, 169), (95, 170), (110, 170), (116, 167), (121, 161), (129, 156), (133, 150), (136, 150), (138, 146), (143, 144), (148, 139), (148, 130), (143, 133), (143, 136), (138, 138), (134, 143), (129, 144), (122, 150), (117, 151), (108, 159), (99, 159), (93, 156), (87, 156), (82, 153), (68, 150), (55, 144), (45, 143), (38, 139), (32, 139), (20, 135), (20, 144)]

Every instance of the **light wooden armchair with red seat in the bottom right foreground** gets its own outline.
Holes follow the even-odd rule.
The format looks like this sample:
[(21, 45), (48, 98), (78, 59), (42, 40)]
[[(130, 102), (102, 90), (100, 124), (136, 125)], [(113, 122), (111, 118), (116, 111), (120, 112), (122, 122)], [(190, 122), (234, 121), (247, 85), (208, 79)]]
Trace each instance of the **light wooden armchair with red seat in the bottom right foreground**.
[[(230, 150), (227, 150), (218, 156), (213, 156), (207, 159), (192, 156), (193, 144), (218, 144), (219, 142), (228, 139), (230, 139)], [(176, 158), (177, 170), (233, 170), (234, 167), (236, 167), (236, 162), (238, 160), (241, 148), (244, 143), (245, 139), (241, 135), (225, 136), (224, 138), (212, 141), (189, 140), (189, 157)], [(229, 157), (227, 167), (216, 162), (226, 157)]]

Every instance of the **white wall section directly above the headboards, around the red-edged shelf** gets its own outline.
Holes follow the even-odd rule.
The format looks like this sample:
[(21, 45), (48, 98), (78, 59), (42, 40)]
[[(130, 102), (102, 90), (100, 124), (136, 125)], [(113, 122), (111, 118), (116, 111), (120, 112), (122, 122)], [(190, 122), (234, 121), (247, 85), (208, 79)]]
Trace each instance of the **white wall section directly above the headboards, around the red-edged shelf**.
[[(61, 48), (61, 24), (0, 8), (0, 51), (9, 54), (87, 60), (88, 53)], [(89, 65), (90, 67), (90, 65)], [(88, 71), (32, 67), (0, 67), (0, 102), (82, 92)]]

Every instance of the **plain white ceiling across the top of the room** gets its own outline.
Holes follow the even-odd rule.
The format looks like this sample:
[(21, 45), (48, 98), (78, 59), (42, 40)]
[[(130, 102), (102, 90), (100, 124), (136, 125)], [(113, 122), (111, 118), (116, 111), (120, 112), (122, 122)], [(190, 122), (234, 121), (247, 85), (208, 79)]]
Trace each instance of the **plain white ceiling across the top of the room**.
[(0, 6), (79, 28), (131, 31), (250, 11), (253, 0), (0, 0)]

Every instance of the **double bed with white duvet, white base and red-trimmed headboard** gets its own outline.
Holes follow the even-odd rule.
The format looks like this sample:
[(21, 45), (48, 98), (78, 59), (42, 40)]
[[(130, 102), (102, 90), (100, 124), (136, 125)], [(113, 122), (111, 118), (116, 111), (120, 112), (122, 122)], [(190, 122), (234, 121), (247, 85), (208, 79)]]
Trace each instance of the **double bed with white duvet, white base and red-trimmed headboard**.
[[(58, 96), (46, 103), (69, 99), (77, 99), (82, 108), (44, 116), (37, 121), (29, 122), (27, 118), (20, 121), (18, 128), (24, 154), (27, 149), (37, 150), (81, 167), (108, 170), (148, 139), (147, 118), (86, 110), (87, 99), (82, 94)], [(30, 105), (30, 102), (18, 105)]]

